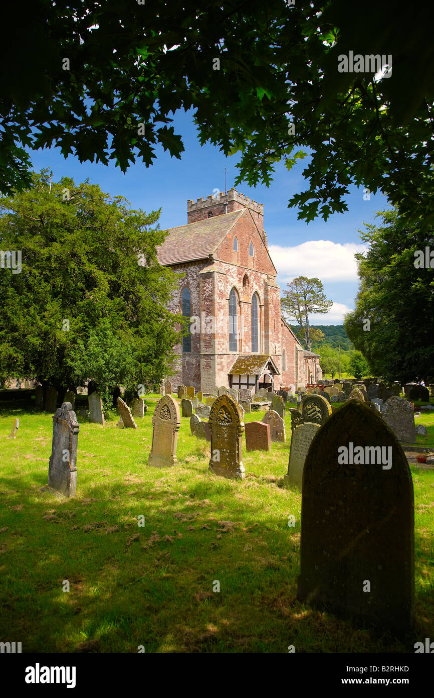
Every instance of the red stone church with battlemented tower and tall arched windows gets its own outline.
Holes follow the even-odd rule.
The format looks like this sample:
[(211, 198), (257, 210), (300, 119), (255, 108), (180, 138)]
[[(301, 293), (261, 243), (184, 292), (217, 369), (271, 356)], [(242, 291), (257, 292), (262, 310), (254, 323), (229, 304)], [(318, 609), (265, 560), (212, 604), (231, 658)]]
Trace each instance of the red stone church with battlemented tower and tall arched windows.
[(294, 391), (322, 378), (319, 356), (303, 349), (281, 317), (262, 204), (235, 189), (188, 200), (187, 225), (170, 228), (157, 253), (161, 265), (184, 274), (169, 309), (190, 318), (175, 348), (173, 390)]

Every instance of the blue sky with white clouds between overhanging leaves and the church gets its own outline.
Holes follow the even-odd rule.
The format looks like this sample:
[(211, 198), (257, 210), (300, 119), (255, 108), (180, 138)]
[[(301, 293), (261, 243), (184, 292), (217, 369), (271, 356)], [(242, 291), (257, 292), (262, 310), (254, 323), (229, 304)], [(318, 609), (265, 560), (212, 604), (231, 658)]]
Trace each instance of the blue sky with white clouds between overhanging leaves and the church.
[[(114, 163), (107, 167), (79, 163), (72, 156), (65, 160), (60, 150), (52, 148), (31, 151), (33, 169), (38, 172), (51, 168), (56, 181), (66, 176), (79, 183), (88, 177), (102, 191), (125, 196), (133, 208), (144, 211), (161, 208), (161, 228), (183, 225), (187, 222), (187, 199), (206, 197), (215, 189), (224, 191), (225, 168), (226, 188), (234, 186), (239, 154), (225, 158), (218, 147), (210, 144), (201, 147), (191, 112), (178, 112), (173, 126), (175, 133), (183, 138), (185, 151), (181, 160), (171, 158), (157, 147), (154, 165), (146, 168), (144, 163), (137, 162), (123, 174)], [(357, 230), (363, 230), (364, 223), (373, 223), (375, 212), (387, 208), (387, 200), (380, 193), (364, 200), (363, 188), (352, 187), (346, 200), (346, 213), (333, 214), (327, 223), (322, 218), (309, 224), (298, 221), (298, 211), (288, 209), (288, 199), (307, 188), (302, 170), (308, 162), (306, 158), (291, 172), (284, 164), (277, 165), (269, 188), (251, 188), (247, 184), (236, 188), (264, 205), (264, 228), (282, 290), (295, 276), (318, 276), (334, 305), (327, 315), (312, 315), (310, 320), (318, 325), (336, 325), (341, 324), (343, 313), (353, 308), (357, 294), (354, 253), (362, 248)]]

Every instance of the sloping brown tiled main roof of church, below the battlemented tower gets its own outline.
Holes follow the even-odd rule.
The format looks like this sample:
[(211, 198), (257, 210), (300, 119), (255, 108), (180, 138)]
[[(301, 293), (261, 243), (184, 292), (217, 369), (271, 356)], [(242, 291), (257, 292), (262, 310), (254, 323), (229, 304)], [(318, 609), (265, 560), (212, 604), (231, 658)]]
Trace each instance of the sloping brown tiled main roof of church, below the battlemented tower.
[(169, 228), (166, 239), (157, 248), (160, 265), (174, 265), (208, 258), (245, 211), (247, 209), (240, 209), (230, 214), (204, 218), (197, 223)]

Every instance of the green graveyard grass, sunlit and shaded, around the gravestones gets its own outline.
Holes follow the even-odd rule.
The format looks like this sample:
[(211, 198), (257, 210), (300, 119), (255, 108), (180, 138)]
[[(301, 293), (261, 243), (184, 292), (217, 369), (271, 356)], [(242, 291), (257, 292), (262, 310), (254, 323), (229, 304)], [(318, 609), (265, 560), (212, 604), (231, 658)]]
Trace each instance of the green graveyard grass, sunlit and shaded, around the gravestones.
[[(286, 445), (247, 453), (243, 438), (246, 479), (239, 482), (208, 473), (210, 445), (191, 436), (186, 418), (178, 465), (148, 467), (159, 397), (147, 397), (137, 430), (118, 429), (114, 417), (104, 428), (77, 417), (71, 500), (41, 491), (52, 416), (3, 403), (1, 641), (22, 642), (23, 652), (286, 653), (293, 645), (296, 652), (413, 653), (416, 641), (434, 637), (433, 470), (411, 468), (416, 625), (395, 637), (296, 600), (301, 497), (281, 487), (288, 409)], [(9, 440), (14, 417), (20, 429)], [(418, 441), (434, 444), (434, 415), (416, 423), (428, 428)]]

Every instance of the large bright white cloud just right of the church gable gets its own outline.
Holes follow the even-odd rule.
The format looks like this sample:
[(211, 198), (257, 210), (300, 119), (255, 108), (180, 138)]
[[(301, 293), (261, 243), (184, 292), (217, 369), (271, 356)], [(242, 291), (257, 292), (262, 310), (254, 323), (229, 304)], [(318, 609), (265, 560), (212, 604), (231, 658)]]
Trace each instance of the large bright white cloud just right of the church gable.
[(295, 276), (317, 276), (320, 281), (357, 281), (356, 252), (366, 246), (343, 245), (331, 240), (309, 240), (295, 247), (270, 245), (270, 255), (279, 279), (288, 283)]

